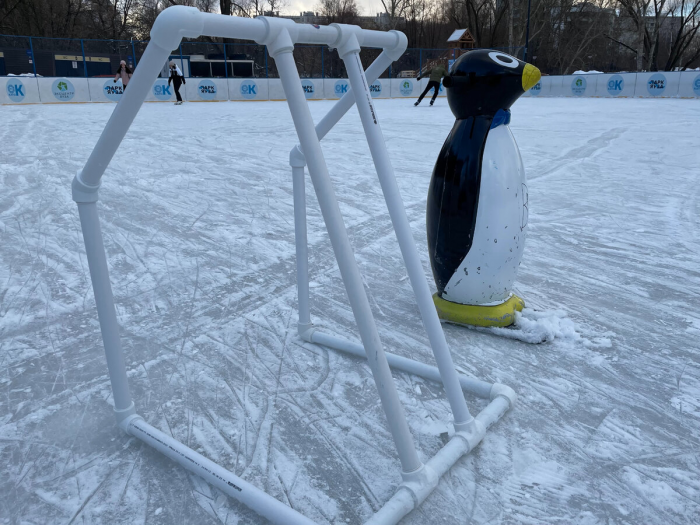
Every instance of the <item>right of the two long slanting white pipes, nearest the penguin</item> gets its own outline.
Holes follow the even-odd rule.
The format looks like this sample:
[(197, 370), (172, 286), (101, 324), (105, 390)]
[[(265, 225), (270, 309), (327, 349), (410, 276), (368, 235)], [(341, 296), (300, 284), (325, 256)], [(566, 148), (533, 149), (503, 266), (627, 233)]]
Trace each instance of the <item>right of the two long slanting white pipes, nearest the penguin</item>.
[(428, 281), (423, 273), (423, 265), (418, 255), (418, 249), (413, 241), (413, 232), (406, 216), (406, 210), (396, 183), (394, 168), (389, 160), (389, 153), (386, 149), (382, 130), (379, 126), (377, 113), (372, 104), (372, 95), (369, 91), (369, 83), (365, 78), (362, 69), (360, 55), (356, 50), (351, 50), (341, 56), (348, 72), (348, 79), (352, 90), (355, 92), (355, 106), (360, 113), (362, 126), (367, 137), (372, 160), (377, 170), (379, 183), (384, 193), (384, 200), (389, 209), (389, 216), (396, 232), (396, 238), (401, 248), (406, 271), (416, 296), (418, 309), (420, 310), (423, 325), (430, 340), (430, 346), (435, 356), (442, 383), (445, 387), (447, 399), (452, 408), (455, 418), (455, 426), (465, 428), (469, 425), (473, 417), (469, 413), (464, 394), (459, 385), (457, 372), (454, 368), (452, 355), (445, 340), (445, 333), (442, 330), (440, 319), (438, 318), (435, 305), (433, 304)]

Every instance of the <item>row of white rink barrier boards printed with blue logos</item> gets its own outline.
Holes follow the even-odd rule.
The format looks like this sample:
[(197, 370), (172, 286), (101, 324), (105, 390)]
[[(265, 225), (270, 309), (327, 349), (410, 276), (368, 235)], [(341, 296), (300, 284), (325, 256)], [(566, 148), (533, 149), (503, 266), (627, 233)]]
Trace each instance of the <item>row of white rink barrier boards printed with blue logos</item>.
[[(307, 100), (336, 100), (349, 89), (344, 78), (301, 79)], [(428, 85), (422, 78), (382, 78), (372, 83), (373, 98), (418, 98)], [(121, 99), (121, 80), (112, 77), (0, 77), (0, 104), (61, 104), (104, 102)], [(278, 78), (190, 78), (181, 86), (183, 100), (285, 100)], [(445, 96), (440, 86), (439, 97)], [(700, 98), (700, 71), (648, 73), (603, 73), (544, 76), (525, 97), (604, 98)], [(432, 91), (426, 98), (432, 97)], [(150, 102), (175, 102), (175, 89), (158, 78), (146, 97)]]

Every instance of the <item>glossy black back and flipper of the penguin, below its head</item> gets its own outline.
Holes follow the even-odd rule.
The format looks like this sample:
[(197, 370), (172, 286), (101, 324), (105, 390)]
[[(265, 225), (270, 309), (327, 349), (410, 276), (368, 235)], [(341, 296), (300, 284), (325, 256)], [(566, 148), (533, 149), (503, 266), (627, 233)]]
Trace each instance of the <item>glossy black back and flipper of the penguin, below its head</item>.
[(428, 250), (438, 295), (447, 286), (474, 239), (481, 159), (492, 118), (455, 122), (440, 151), (428, 191)]

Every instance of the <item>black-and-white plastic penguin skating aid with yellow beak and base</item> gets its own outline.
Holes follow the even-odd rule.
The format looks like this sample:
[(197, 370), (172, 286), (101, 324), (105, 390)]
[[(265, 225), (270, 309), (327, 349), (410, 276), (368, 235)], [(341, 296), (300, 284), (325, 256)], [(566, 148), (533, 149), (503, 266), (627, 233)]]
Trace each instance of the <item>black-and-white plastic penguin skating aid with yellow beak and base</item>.
[(456, 117), (428, 190), (428, 249), (440, 318), (508, 326), (524, 302), (511, 293), (525, 245), (525, 169), (510, 107), (539, 70), (504, 53), (462, 55), (443, 85)]

